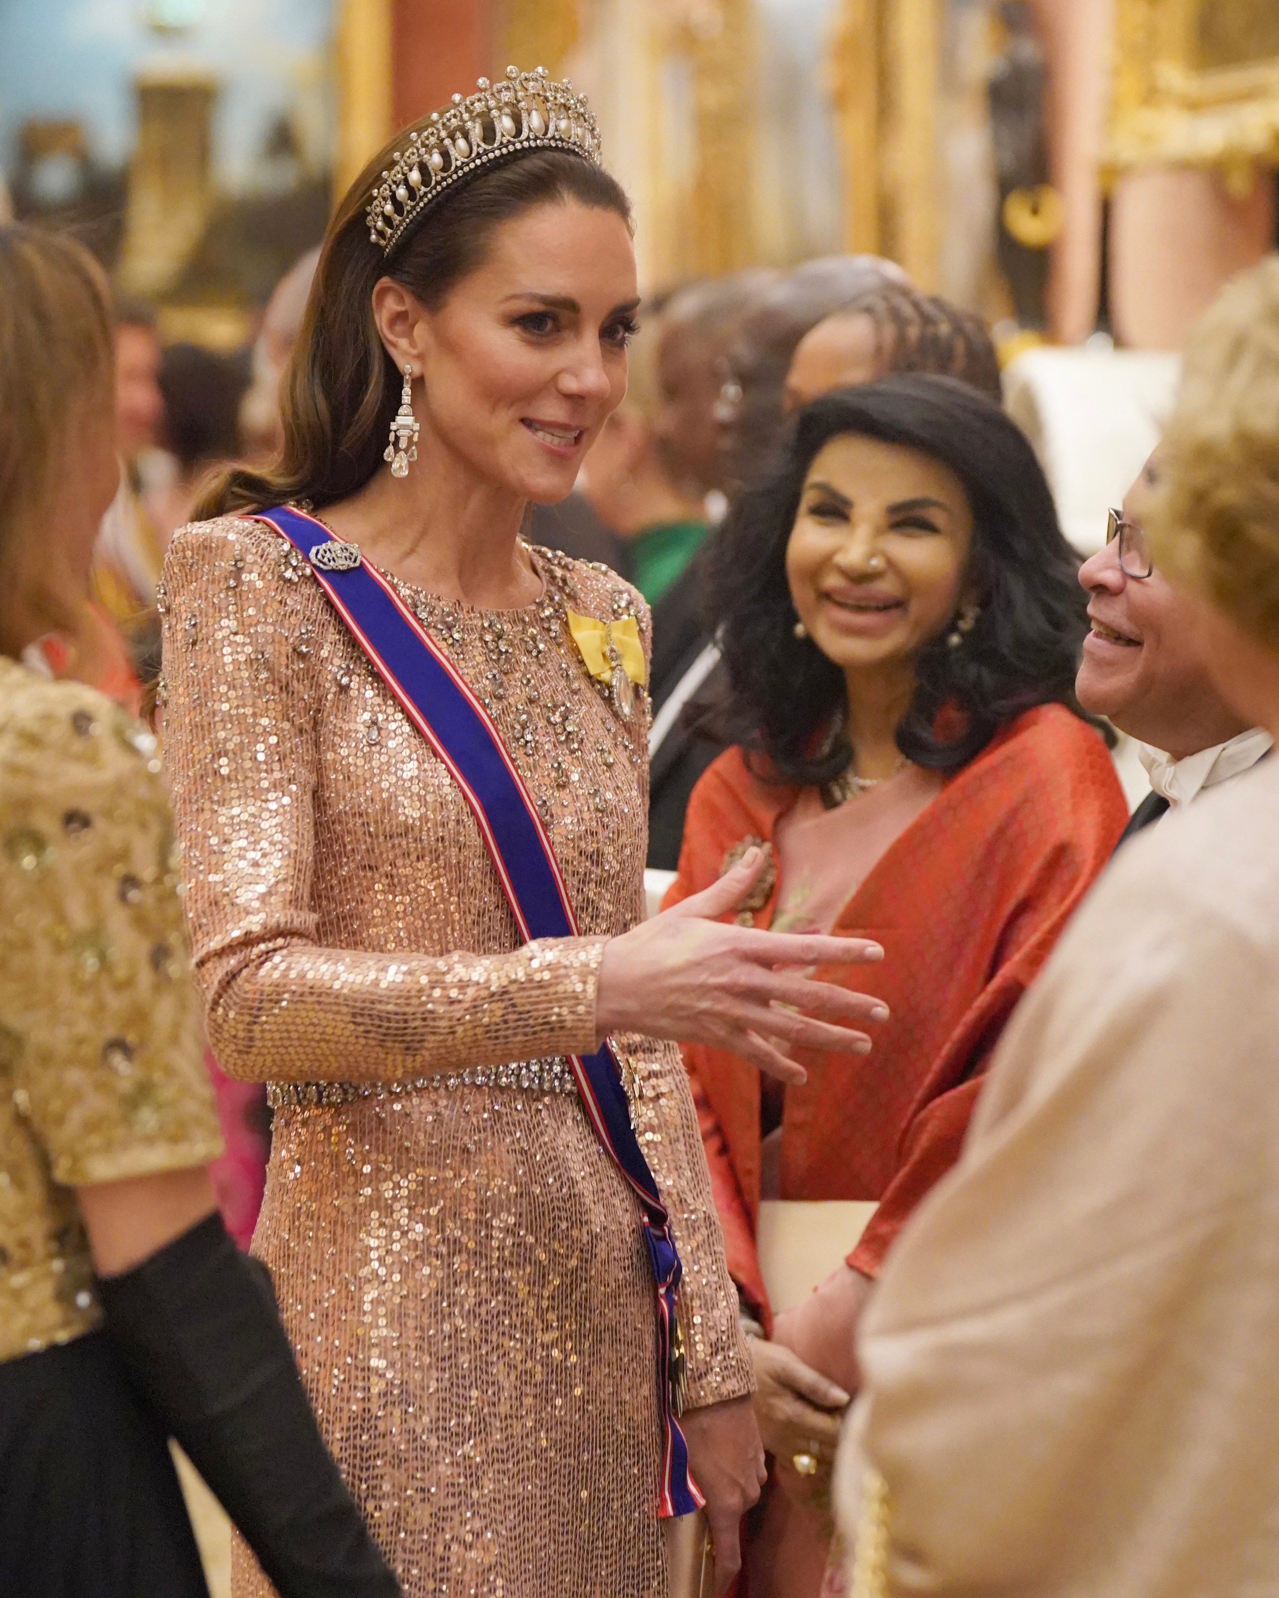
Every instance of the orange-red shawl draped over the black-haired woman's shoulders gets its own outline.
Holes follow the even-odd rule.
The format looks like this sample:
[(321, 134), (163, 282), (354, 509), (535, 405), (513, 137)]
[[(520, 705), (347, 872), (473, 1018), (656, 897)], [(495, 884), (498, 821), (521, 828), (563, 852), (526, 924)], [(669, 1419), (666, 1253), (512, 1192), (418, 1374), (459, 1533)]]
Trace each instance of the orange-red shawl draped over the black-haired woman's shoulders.
[[(745, 837), (772, 841), (796, 788), (771, 786), (727, 749), (689, 802), (673, 904), (715, 882)], [(1004, 727), (889, 845), (841, 911), (835, 933), (876, 938), (879, 965), (844, 980), (884, 999), (867, 1058), (799, 1053), (809, 1079), (787, 1088), (785, 1198), (875, 1198), (849, 1264), (876, 1275), (908, 1214), (959, 1155), (969, 1115), (1014, 1005), (1110, 858), (1127, 804), (1102, 738), (1062, 705)], [(772, 920), (777, 890), (756, 912)], [(691, 1045), (692, 1079), (724, 1226), (729, 1270), (767, 1320), (755, 1251), (759, 1213), (759, 1075)]]

